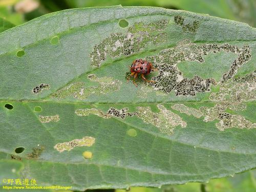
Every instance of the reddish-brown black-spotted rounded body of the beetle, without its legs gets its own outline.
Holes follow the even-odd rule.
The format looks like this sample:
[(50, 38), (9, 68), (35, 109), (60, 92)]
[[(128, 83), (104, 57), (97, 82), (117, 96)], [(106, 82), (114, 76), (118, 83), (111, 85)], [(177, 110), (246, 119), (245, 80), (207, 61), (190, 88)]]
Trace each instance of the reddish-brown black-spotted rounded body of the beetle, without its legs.
[(151, 72), (152, 63), (142, 59), (136, 59), (131, 66), (131, 73), (141, 73), (147, 75)]

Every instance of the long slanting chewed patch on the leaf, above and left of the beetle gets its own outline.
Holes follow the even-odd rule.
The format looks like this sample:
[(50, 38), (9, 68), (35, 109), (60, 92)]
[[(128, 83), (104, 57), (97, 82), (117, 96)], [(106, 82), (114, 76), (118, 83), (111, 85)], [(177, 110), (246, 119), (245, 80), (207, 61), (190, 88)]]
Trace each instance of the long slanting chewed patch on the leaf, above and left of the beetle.
[(148, 45), (157, 46), (164, 43), (167, 34), (164, 32), (168, 20), (158, 20), (150, 24), (136, 23), (128, 28), (126, 34), (112, 33), (95, 45), (90, 53), (91, 65), (100, 67), (107, 57), (116, 58), (121, 55), (129, 56), (148, 49)]

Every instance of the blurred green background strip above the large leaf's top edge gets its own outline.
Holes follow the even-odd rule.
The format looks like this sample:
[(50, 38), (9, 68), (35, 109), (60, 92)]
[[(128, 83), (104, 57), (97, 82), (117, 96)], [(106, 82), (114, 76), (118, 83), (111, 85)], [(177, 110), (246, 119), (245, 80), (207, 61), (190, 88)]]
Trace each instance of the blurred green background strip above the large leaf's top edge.
[(20, 25), (63, 9), (113, 5), (182, 9), (256, 26), (256, 0), (0, 0), (0, 17)]

